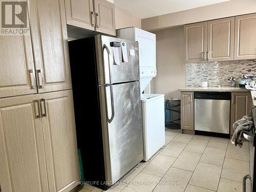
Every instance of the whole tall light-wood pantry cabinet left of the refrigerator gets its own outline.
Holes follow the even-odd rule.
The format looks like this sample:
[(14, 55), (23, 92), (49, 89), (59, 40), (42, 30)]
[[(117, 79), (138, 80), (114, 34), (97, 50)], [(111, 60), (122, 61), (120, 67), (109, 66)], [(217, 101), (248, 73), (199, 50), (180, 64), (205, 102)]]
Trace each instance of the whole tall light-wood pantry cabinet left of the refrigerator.
[(79, 181), (64, 1), (28, 1), (30, 34), (0, 35), (0, 190)]

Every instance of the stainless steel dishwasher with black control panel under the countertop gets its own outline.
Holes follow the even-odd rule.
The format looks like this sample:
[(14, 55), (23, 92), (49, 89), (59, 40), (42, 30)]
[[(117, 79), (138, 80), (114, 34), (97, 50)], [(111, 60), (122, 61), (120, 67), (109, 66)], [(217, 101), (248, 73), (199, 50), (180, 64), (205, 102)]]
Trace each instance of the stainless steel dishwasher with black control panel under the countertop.
[(230, 92), (195, 92), (195, 133), (229, 138)]

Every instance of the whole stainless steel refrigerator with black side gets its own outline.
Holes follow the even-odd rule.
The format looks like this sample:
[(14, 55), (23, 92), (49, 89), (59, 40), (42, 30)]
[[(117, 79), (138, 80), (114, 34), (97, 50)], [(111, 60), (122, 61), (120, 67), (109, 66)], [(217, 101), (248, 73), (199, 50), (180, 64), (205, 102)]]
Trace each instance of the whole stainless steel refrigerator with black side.
[(84, 180), (107, 189), (143, 159), (138, 42), (97, 35), (69, 52)]

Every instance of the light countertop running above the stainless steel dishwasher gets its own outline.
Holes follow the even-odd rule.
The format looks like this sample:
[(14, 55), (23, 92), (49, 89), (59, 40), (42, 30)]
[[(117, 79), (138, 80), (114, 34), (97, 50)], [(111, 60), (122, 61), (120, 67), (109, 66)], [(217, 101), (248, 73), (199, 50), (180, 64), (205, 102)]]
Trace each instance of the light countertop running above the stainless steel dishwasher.
[[(247, 90), (245, 88), (233, 88), (233, 87), (207, 87), (207, 88), (201, 88), (201, 87), (186, 87), (184, 89), (178, 89), (179, 91), (217, 91), (217, 92), (250, 92), (250, 90)], [(256, 100), (255, 100), (256, 104)]]

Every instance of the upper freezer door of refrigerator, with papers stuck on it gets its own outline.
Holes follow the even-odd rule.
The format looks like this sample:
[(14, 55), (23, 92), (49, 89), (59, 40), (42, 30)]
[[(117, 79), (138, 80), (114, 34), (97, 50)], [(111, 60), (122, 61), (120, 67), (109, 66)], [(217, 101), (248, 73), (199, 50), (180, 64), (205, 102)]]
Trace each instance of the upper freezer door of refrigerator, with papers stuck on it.
[[(102, 35), (97, 35), (95, 41), (98, 84), (114, 84), (139, 80), (138, 42)], [(123, 41), (126, 46), (128, 62), (122, 62), (121, 46), (123, 45), (121, 41)], [(120, 42), (120, 47), (116, 47), (119, 53), (120, 65), (116, 65), (116, 62), (114, 62), (114, 47), (111, 47), (111, 42)], [(117, 45), (118, 44), (114, 44), (114, 46)], [(135, 55), (130, 54), (130, 49), (134, 50)]]

